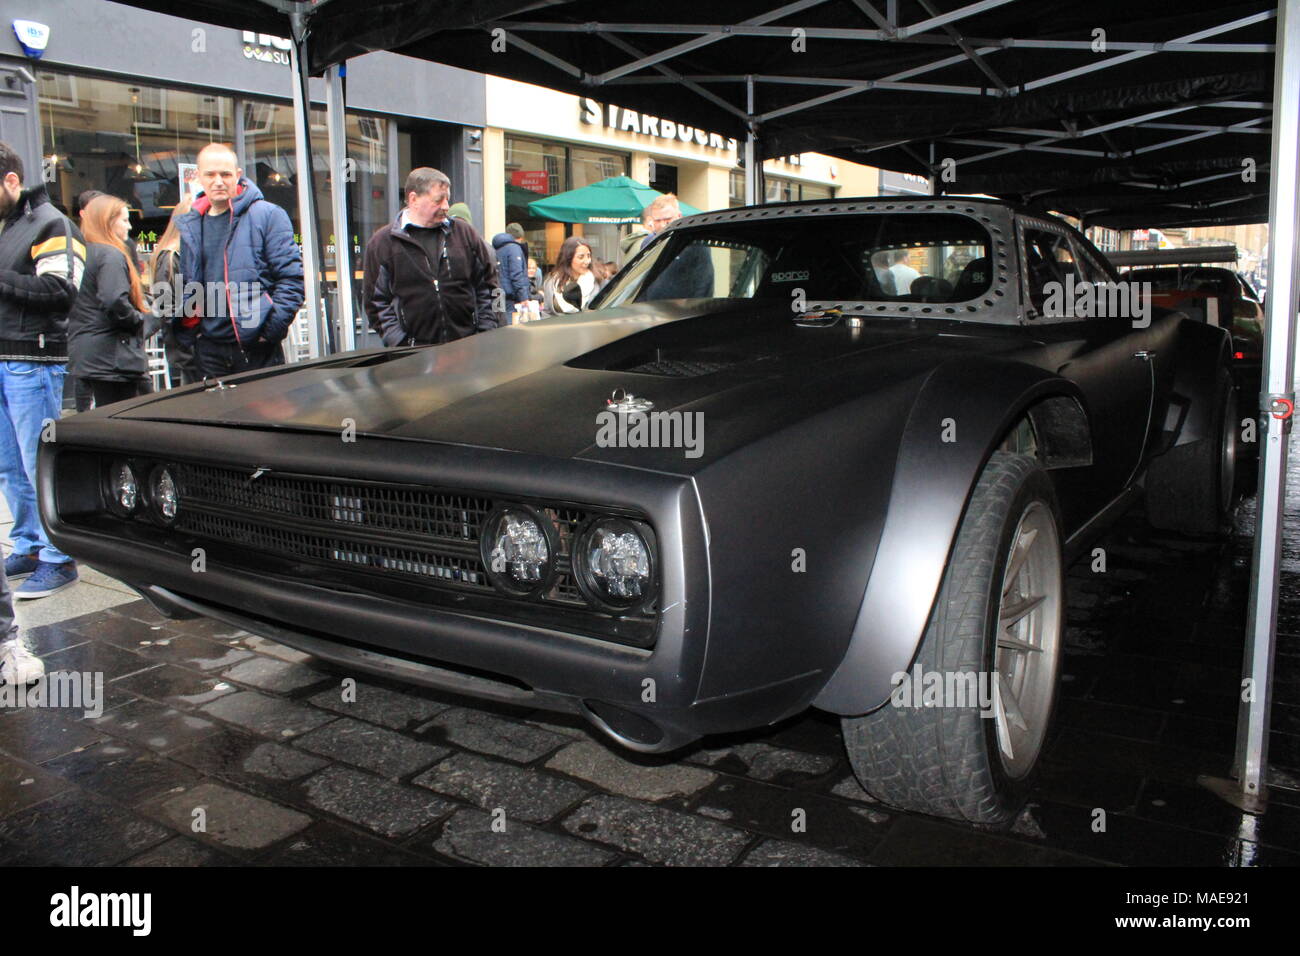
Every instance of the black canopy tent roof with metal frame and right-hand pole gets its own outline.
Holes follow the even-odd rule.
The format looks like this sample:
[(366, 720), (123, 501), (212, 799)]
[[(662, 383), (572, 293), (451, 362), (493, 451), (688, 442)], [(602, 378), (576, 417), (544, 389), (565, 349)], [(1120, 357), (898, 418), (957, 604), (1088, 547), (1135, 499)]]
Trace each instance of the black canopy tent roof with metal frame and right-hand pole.
[[(744, 137), (751, 202), (759, 150), (818, 151), (1114, 228), (1268, 220), (1261, 405), (1294, 398), (1300, 0), (124, 1), (291, 35), (306, 177), (306, 75), (390, 49)], [(1249, 809), (1266, 775), (1288, 431), (1269, 416), (1235, 765)]]

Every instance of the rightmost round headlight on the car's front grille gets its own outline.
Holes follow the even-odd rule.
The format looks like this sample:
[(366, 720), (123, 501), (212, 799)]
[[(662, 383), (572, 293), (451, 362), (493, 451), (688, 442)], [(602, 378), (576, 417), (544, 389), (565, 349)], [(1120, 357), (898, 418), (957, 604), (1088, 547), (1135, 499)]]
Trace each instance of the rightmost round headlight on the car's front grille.
[(621, 518), (598, 518), (578, 535), (573, 550), (578, 588), (593, 604), (627, 611), (654, 592), (649, 528)]

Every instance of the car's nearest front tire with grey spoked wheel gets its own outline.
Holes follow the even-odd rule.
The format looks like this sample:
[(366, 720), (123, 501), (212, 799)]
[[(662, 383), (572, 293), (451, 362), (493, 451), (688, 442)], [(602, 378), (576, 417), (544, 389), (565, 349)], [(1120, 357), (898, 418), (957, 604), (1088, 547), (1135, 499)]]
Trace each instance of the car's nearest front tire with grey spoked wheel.
[[(1056, 702), (1061, 540), (1046, 472), (1028, 455), (994, 453), (962, 519), (909, 682), (879, 710), (841, 722), (849, 762), (868, 793), (968, 823), (1014, 821)], [(933, 680), (927, 675), (942, 675), (952, 687), (937, 706), (913, 706), (918, 671), (923, 685)]]

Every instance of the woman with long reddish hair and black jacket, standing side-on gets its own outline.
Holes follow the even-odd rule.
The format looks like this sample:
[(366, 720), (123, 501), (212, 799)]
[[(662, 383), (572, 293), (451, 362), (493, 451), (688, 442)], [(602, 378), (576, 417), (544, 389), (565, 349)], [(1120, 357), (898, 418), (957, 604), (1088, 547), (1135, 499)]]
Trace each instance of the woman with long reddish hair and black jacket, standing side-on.
[(103, 407), (150, 392), (144, 338), (151, 316), (126, 247), (126, 203), (96, 196), (82, 216), (82, 230), (86, 273), (68, 313), (68, 371), (90, 381), (95, 406)]

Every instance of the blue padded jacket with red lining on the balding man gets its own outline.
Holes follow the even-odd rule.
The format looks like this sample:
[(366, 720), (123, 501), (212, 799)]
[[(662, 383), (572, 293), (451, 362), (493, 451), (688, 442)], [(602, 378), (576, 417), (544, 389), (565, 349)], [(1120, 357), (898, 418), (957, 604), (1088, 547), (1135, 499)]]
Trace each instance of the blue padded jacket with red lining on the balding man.
[[(211, 208), (212, 200), (200, 194), (190, 212), (177, 220), (181, 274), (187, 282), (204, 274), (203, 217)], [(289, 334), (306, 295), (303, 254), (294, 242), (294, 225), (289, 213), (266, 202), (247, 177), (240, 177), (228, 215), (230, 232), (222, 258), (226, 287), (204, 290), (198, 328), (204, 337), (240, 346), (259, 338), (278, 343)], [(191, 298), (186, 295), (187, 302)], [(198, 328), (183, 328), (178, 337), (190, 345)]]

